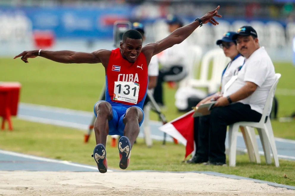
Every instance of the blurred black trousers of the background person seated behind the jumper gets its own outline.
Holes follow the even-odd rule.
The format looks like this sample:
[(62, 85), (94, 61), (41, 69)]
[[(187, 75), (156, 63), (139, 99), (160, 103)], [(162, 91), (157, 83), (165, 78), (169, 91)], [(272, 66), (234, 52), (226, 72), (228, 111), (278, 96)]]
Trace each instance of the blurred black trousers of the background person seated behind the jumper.
[(186, 77), (186, 73), (183, 69), (183, 66), (172, 66), (170, 68), (162, 68), (159, 70), (159, 76), (157, 85), (154, 90), (154, 98), (155, 101), (161, 105), (164, 105), (163, 102), (163, 82), (167, 81), (175, 81), (178, 82), (184, 77)]

